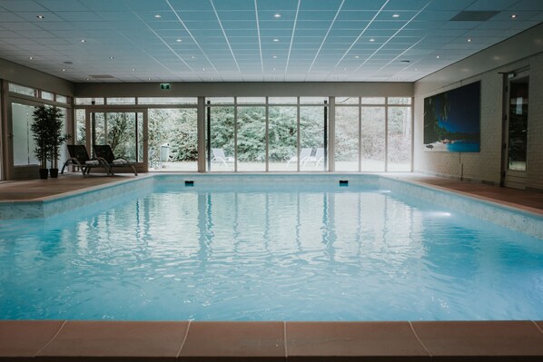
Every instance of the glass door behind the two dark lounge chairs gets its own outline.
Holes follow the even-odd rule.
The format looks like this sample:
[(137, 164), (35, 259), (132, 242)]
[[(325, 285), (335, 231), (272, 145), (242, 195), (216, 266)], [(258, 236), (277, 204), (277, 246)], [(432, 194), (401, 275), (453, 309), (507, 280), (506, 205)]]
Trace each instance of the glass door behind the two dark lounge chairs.
[(147, 112), (86, 111), (86, 145), (93, 153), (94, 144), (109, 144), (115, 157), (123, 157), (136, 164), (138, 171), (147, 171)]

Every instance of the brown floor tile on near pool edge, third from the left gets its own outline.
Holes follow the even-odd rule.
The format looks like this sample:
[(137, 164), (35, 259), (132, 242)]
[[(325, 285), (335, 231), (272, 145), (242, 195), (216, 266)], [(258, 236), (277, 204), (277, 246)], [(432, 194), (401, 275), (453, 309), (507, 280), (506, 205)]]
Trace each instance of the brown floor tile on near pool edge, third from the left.
[(191, 322), (180, 361), (284, 361), (283, 322)]

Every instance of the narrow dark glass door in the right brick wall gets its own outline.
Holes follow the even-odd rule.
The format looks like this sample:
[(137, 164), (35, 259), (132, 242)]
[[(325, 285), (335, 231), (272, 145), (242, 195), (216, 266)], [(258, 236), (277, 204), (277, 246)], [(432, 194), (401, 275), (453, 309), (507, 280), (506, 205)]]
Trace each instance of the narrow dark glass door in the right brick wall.
[(528, 72), (508, 74), (504, 181), (506, 187), (526, 189), (528, 153)]

